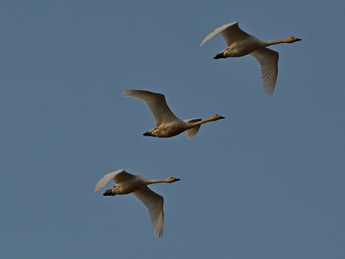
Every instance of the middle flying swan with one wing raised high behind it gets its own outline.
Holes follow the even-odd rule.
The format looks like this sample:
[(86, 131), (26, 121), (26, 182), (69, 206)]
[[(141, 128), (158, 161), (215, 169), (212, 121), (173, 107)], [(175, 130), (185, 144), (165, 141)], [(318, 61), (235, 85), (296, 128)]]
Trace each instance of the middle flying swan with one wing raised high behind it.
[(163, 94), (144, 90), (123, 90), (122, 95), (143, 100), (155, 117), (156, 127), (145, 132), (144, 136), (173, 137), (185, 131), (187, 139), (191, 140), (197, 134), (201, 124), (224, 119), (224, 117), (215, 114), (204, 120), (194, 118), (183, 121), (171, 112)]

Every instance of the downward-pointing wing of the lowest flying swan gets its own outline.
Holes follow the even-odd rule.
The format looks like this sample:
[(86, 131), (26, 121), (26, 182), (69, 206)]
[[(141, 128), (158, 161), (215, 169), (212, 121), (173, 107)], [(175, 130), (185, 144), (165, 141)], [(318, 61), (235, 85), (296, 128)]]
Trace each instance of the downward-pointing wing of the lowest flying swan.
[(132, 193), (145, 204), (150, 214), (154, 235), (160, 238), (163, 233), (164, 222), (163, 197), (151, 191), (147, 185), (141, 186), (138, 191)]

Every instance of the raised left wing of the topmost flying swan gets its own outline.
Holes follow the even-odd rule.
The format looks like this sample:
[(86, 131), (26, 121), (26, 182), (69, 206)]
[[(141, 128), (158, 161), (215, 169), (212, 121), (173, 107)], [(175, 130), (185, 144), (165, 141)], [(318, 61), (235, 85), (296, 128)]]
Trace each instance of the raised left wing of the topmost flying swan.
[(203, 46), (206, 41), (213, 38), (218, 33), (220, 33), (221, 37), (223, 37), (228, 47), (235, 41), (244, 40), (250, 37), (247, 32), (244, 32), (238, 27), (238, 22), (231, 22), (215, 29), (213, 32), (207, 35), (203, 42), (201, 42), (200, 46)]

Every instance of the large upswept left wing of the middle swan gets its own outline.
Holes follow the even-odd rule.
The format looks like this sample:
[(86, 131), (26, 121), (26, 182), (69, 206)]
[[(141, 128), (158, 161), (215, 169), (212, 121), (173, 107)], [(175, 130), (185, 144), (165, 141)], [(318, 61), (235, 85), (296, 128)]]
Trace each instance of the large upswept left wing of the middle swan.
[(171, 112), (163, 94), (152, 93), (144, 90), (123, 90), (122, 96), (143, 100), (149, 107), (152, 115), (155, 117), (156, 126), (179, 119)]

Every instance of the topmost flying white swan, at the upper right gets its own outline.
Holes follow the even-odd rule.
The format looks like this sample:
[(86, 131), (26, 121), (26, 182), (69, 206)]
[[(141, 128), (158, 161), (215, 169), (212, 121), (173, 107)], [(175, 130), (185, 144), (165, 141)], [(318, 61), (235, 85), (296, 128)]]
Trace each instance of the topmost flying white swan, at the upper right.
[(269, 95), (273, 94), (276, 85), (279, 54), (277, 51), (266, 47), (274, 44), (293, 43), (301, 40), (295, 37), (288, 37), (284, 40), (262, 41), (241, 30), (238, 27), (238, 22), (231, 22), (215, 29), (215, 31), (207, 35), (200, 46), (218, 33), (223, 37), (228, 47), (219, 52), (214, 59), (242, 57), (248, 54), (254, 57), (261, 67), (264, 92)]

